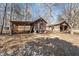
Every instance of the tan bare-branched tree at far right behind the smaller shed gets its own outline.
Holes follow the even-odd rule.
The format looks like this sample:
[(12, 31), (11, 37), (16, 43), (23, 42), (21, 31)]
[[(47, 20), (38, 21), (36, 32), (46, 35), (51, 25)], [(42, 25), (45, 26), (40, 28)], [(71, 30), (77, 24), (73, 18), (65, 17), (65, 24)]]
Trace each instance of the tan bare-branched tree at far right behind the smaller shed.
[(79, 19), (79, 4), (66, 4), (61, 17), (66, 20), (71, 28), (77, 27)]

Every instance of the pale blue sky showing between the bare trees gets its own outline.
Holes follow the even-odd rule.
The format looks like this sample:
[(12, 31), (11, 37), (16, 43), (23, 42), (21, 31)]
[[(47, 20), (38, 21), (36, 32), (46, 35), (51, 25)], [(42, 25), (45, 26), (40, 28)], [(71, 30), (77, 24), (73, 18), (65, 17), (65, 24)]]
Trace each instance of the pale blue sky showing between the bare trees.
[[(17, 3), (17, 5), (20, 7), (21, 10), (24, 10), (24, 8), (25, 8), (24, 3)], [(57, 3), (56, 6), (52, 7), (51, 13), (53, 15), (53, 18), (51, 18), (47, 15), (49, 13), (46, 13), (47, 9), (45, 9), (46, 7), (43, 3), (29, 3), (29, 6), (30, 6), (29, 8), (31, 8), (31, 14), (32, 14), (33, 20), (36, 20), (40, 16), (40, 17), (47, 17), (44, 19), (48, 23), (56, 23), (58, 20), (58, 15), (61, 14), (61, 12), (64, 9), (64, 5), (65, 5), (65, 3)], [(19, 19), (22, 19), (22, 17), (19, 17)]]

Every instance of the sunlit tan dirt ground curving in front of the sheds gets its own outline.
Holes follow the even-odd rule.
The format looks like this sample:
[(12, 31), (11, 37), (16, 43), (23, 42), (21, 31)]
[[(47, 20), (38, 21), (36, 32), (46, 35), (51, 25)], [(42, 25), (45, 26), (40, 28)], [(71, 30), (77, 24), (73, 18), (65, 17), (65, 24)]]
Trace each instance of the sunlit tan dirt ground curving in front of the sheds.
[[(59, 38), (71, 43), (73, 46), (79, 47), (79, 35), (71, 35), (67, 33), (60, 32), (49, 32), (45, 34), (14, 34), (14, 35), (0, 35), (0, 52), (2, 51), (12, 51), (18, 46), (25, 43), (36, 41), (36, 38)], [(10, 52), (8, 52), (10, 53)]]

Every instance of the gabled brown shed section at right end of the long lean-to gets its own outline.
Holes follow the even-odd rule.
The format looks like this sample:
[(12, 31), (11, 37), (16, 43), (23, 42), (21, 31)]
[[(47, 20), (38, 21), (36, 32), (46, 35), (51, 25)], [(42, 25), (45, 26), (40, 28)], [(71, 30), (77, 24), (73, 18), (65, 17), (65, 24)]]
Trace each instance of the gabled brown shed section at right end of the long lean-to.
[(32, 23), (31, 32), (43, 33), (46, 30), (46, 24), (47, 22), (40, 17)]

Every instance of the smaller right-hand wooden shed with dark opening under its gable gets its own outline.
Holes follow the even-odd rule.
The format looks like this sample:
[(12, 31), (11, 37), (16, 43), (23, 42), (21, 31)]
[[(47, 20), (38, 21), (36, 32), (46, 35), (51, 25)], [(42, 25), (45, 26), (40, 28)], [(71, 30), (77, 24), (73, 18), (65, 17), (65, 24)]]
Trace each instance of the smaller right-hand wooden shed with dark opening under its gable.
[(69, 32), (69, 29), (71, 28), (66, 21), (61, 21), (57, 24), (49, 25), (49, 27), (51, 27), (52, 30), (58, 29), (60, 32)]

